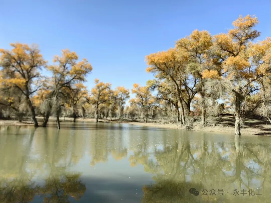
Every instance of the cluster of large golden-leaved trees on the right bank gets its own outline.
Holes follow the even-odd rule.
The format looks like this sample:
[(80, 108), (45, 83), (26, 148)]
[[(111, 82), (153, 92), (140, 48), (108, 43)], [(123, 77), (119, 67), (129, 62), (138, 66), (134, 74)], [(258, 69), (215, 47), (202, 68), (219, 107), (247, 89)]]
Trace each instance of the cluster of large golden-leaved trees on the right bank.
[(235, 134), (250, 113), (270, 122), (271, 39), (253, 43), (260, 32), (254, 16), (239, 17), (233, 29), (211, 36), (194, 30), (175, 43), (173, 49), (146, 57), (148, 81), (161, 99), (180, 109), (180, 121), (191, 125), (191, 105), (201, 112), (202, 124), (216, 114), (218, 99), (234, 108)]

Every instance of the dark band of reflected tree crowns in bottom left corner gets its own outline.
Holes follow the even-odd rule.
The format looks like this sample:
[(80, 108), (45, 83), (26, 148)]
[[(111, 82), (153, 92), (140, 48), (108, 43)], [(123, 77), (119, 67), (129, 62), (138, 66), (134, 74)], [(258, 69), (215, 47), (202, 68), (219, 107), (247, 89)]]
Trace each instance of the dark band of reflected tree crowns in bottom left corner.
[(35, 195), (42, 196), (43, 202), (70, 202), (69, 197), (79, 200), (86, 190), (78, 174), (48, 178), (44, 186), (23, 179), (2, 179), (0, 202), (31, 202)]

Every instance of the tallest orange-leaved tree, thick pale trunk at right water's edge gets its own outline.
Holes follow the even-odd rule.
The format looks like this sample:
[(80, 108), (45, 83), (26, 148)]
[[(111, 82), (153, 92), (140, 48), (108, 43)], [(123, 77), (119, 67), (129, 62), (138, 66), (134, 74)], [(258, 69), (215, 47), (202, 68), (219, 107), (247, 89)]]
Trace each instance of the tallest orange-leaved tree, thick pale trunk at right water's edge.
[[(247, 114), (253, 111), (262, 102), (258, 95), (260, 89), (258, 79), (263, 76), (261, 67), (257, 65), (251, 55), (253, 48), (251, 41), (260, 36), (254, 26), (258, 23), (256, 17), (247, 15), (239, 16), (233, 22), (233, 29), (227, 34), (214, 36), (217, 51), (224, 58), (222, 63), (222, 77), (228, 85), (230, 94), (234, 97), (235, 104), (235, 134), (241, 134), (241, 125)], [(270, 71), (270, 67), (264, 67)]]

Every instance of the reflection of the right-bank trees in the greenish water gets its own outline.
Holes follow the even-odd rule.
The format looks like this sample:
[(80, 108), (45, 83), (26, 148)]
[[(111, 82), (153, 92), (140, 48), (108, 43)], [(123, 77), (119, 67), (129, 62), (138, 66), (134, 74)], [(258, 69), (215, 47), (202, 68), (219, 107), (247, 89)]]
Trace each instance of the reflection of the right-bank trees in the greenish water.
[[(143, 186), (141, 202), (269, 202), (271, 150), (267, 144), (247, 143), (238, 136), (228, 142), (207, 141), (204, 135), (195, 141), (189, 136), (164, 138), (164, 146), (155, 146), (153, 154), (143, 143), (130, 156), (131, 166), (142, 164), (154, 174), (155, 183)], [(190, 188), (200, 195), (191, 195)], [(258, 188), (262, 196), (249, 196), (249, 189), (258, 194)], [(204, 196), (203, 189), (224, 193)], [(234, 196), (234, 189), (246, 189), (247, 194)]]

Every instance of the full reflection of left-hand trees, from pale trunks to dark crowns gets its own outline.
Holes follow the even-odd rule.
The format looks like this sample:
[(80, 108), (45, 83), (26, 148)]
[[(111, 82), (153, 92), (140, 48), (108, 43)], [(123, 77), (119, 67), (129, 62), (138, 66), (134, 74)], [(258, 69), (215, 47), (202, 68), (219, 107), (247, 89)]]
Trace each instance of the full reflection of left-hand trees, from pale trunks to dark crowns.
[[(43, 202), (66, 203), (70, 202), (69, 197), (79, 200), (86, 186), (80, 180), (79, 173), (68, 171), (69, 166), (78, 161), (73, 156), (74, 150), (78, 150), (74, 148), (76, 142), (73, 146), (65, 145), (69, 136), (62, 136), (60, 140), (59, 133), (50, 136), (47, 130), (44, 136), (35, 137), (43, 138), (43, 141), (35, 140), (36, 128), (30, 131), (26, 139), (18, 134), (19, 129), (0, 137), (0, 149), (5, 154), (0, 157), (3, 163), (0, 168), (0, 202), (31, 202), (36, 195), (43, 198)], [(31, 153), (35, 141), (44, 144), (38, 146), (40, 154)], [(32, 157), (35, 155), (39, 158)], [(39, 178), (44, 173), (40, 184), (34, 181), (35, 176)]]

